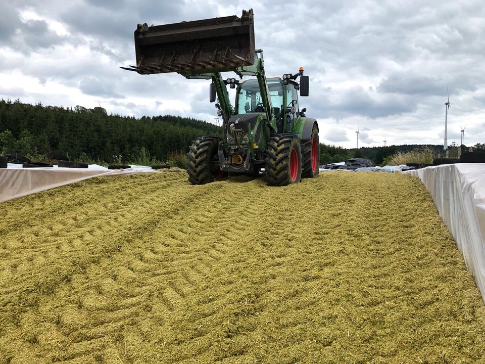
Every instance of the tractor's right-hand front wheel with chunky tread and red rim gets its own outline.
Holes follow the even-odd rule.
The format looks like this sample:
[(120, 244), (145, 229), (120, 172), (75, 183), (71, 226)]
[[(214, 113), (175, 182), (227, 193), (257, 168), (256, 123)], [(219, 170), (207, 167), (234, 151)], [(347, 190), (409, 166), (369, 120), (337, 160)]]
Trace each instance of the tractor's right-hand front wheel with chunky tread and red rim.
[(302, 178), (302, 153), (297, 135), (273, 136), (266, 148), (266, 183), (286, 186), (299, 183)]

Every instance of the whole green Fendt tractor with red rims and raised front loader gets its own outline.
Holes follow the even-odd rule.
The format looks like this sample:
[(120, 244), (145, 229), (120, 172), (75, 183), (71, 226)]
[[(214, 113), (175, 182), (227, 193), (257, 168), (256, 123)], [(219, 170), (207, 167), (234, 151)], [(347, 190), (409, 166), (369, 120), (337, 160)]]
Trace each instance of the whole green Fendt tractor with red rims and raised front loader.
[[(255, 49), (253, 10), (243, 15), (135, 30), (139, 74), (177, 72), (190, 79), (211, 79), (210, 102), (221, 116), (222, 141), (201, 136), (187, 154), (188, 180), (203, 185), (227, 175), (259, 175), (267, 184), (286, 186), (318, 176), (319, 142), (315, 119), (300, 111), (300, 96), (308, 96), (303, 68), (282, 77), (266, 78), (263, 51)], [(223, 78), (221, 72), (236, 78)], [(245, 76), (256, 76), (243, 79)], [(297, 81), (299, 79), (299, 81)], [(235, 107), (227, 86), (236, 88)]]

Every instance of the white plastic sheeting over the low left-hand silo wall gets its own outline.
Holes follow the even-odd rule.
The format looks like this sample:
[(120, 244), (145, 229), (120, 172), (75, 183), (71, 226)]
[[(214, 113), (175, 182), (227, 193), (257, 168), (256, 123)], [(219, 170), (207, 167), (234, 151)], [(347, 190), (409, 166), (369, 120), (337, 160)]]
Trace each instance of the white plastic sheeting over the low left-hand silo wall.
[(108, 169), (97, 164), (90, 164), (88, 168), (63, 168), (58, 166), (22, 168), (21, 164), (9, 163), (7, 168), (0, 169), (0, 202), (95, 176), (147, 172), (157, 172), (157, 170), (136, 165), (126, 169)]

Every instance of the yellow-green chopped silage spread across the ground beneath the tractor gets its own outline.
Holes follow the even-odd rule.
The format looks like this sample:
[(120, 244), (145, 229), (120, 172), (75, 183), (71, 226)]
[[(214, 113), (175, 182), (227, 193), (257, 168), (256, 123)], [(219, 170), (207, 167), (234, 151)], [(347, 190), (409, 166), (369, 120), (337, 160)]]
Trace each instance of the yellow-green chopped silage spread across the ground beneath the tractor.
[(0, 363), (483, 362), (480, 294), (411, 176), (96, 177), (0, 217)]

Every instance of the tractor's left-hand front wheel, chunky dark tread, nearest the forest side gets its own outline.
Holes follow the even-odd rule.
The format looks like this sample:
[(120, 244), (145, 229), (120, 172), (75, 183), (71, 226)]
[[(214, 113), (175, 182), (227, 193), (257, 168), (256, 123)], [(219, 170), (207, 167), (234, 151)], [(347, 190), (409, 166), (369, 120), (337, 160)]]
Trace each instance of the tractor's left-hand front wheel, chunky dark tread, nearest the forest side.
[(187, 153), (188, 181), (192, 185), (205, 185), (226, 175), (219, 168), (219, 142), (215, 136), (201, 136), (192, 142)]

